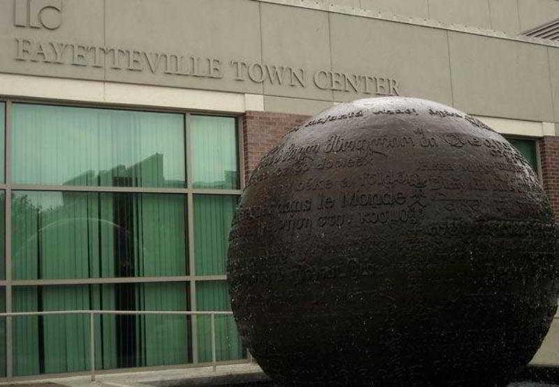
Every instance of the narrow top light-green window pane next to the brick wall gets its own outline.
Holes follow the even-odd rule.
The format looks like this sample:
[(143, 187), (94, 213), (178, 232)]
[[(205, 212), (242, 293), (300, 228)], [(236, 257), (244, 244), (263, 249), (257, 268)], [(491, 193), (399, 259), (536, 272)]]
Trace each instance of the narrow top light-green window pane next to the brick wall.
[(236, 120), (191, 116), (194, 188), (239, 188)]

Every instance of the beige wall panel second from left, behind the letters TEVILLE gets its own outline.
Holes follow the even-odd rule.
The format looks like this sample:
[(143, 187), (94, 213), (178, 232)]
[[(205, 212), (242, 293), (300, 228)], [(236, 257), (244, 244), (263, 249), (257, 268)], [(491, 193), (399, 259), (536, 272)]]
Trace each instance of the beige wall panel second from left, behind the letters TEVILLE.
[[(121, 53), (120, 66), (124, 68), (113, 69), (112, 58), (108, 56), (106, 77), (110, 81), (262, 92), (262, 84), (235, 80), (236, 70), (231, 64), (233, 60), (261, 61), (257, 1), (108, 0), (106, 15), (106, 44), (138, 50), (138, 63), (132, 63), (131, 67), (141, 68), (127, 69), (130, 54)], [(176, 57), (171, 54), (184, 56), (180, 70), (177, 70)], [(191, 56), (199, 58), (196, 60), (198, 76), (173, 74), (193, 73)], [(169, 66), (167, 58), (170, 58)], [(210, 72), (216, 77), (200, 76), (208, 75), (208, 60), (212, 59), (220, 63), (220, 70)]]

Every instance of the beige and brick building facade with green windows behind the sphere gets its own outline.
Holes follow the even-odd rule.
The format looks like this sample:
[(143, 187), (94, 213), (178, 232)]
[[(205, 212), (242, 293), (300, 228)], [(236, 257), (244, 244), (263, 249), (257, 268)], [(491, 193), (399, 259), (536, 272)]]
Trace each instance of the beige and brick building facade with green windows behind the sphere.
[[(476, 116), (559, 214), (557, 19), (556, 0), (0, 0), (0, 308), (228, 310), (245, 179), (287, 130), (358, 98)], [(217, 359), (245, 361), (216, 319)], [(0, 327), (3, 377), (89, 369), (85, 316)], [(212, 359), (207, 317), (94, 329), (99, 370)], [(559, 365), (559, 320), (533, 362)]]

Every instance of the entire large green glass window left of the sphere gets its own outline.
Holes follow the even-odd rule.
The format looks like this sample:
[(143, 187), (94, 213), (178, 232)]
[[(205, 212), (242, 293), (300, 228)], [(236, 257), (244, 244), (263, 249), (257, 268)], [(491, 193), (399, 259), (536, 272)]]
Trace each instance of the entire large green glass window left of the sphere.
[[(4, 108), (0, 103), (2, 160)], [(204, 277), (225, 275), (240, 189), (235, 118), (33, 103), (13, 103), (10, 112), (14, 312), (182, 311), (190, 310), (191, 297), (196, 310), (230, 310), (226, 281)], [(0, 280), (5, 200), (0, 191)], [(0, 310), (5, 305), (4, 292)], [(8, 356), (14, 376), (90, 369), (89, 314), (12, 321), (10, 355), (0, 319), (0, 376)], [(215, 327), (217, 360), (245, 358), (233, 317), (216, 316)], [(98, 370), (212, 360), (209, 316), (96, 315), (94, 328)]]

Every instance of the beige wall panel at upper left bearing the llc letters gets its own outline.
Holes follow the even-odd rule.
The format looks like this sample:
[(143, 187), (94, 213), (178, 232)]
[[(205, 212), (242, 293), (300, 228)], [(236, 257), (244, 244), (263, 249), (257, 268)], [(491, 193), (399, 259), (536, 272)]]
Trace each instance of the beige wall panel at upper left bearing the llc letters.
[[(43, 11), (45, 25), (41, 24), (38, 4), (27, 8), (27, 1), (19, 8), (20, 16), (30, 17), (37, 26), (15, 26), (15, 1), (0, 1), (0, 72), (29, 75), (50, 75), (79, 79), (103, 79), (103, 68), (73, 65), (73, 45), (103, 46), (103, 0), (52, 0), (60, 11)], [(26, 9), (27, 8), (27, 9)], [(26, 21), (27, 22), (27, 21)], [(18, 43), (18, 40), (19, 43)], [(39, 45), (41, 44), (41, 45)], [(19, 46), (19, 47), (18, 47)], [(18, 54), (18, 49), (21, 51)], [(87, 50), (77, 47), (78, 54)], [(59, 54), (56, 54), (58, 50)], [(44, 52), (42, 54), (41, 52)], [(16, 60), (17, 57), (22, 60)], [(48, 63), (50, 62), (50, 63)], [(61, 62), (61, 63), (55, 63)], [(82, 64), (83, 61), (78, 60)]]

